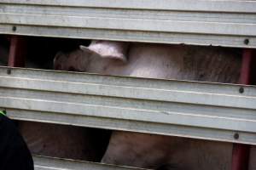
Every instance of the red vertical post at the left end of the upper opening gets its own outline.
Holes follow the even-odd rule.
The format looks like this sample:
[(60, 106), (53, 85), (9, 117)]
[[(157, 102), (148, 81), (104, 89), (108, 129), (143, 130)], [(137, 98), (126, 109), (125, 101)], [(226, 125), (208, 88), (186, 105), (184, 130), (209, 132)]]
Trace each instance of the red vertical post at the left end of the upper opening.
[(24, 67), (26, 57), (26, 40), (24, 37), (10, 37), (8, 65), (13, 67)]

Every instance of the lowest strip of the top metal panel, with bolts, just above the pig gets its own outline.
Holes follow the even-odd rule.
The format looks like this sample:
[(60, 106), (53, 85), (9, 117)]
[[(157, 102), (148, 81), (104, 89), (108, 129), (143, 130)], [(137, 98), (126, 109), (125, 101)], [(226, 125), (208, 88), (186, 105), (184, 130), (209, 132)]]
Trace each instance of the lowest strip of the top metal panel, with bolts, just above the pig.
[(194, 45), (212, 45), (223, 47), (238, 48), (256, 48), (256, 37), (250, 37), (246, 44), (247, 37), (236, 36), (217, 36), (217, 35), (190, 35), (182, 33), (166, 32), (143, 32), (143, 31), (113, 31), (97, 30), (87, 28), (63, 28), (63, 27), (42, 27), (42, 26), (16, 26), (1, 25), (0, 34), (13, 34), (20, 36), (38, 36), (38, 37), (66, 37), (66, 38), (84, 38), (97, 40), (112, 40), (125, 42), (158, 42), (172, 44), (194, 44)]

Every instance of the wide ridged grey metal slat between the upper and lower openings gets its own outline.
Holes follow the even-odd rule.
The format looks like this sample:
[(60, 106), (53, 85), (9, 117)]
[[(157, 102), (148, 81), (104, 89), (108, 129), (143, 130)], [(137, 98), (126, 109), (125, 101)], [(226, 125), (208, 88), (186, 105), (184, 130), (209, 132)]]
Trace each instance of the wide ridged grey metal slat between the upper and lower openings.
[(253, 86), (5, 67), (0, 78), (0, 107), (18, 120), (256, 144)]

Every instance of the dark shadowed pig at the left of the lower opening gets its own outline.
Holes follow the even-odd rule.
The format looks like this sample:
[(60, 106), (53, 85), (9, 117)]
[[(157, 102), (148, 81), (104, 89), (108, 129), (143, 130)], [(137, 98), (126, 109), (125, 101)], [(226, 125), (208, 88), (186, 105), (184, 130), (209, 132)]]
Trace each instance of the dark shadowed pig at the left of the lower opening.
[(20, 122), (19, 129), (33, 155), (75, 160), (101, 161), (109, 138), (100, 129), (42, 122)]

